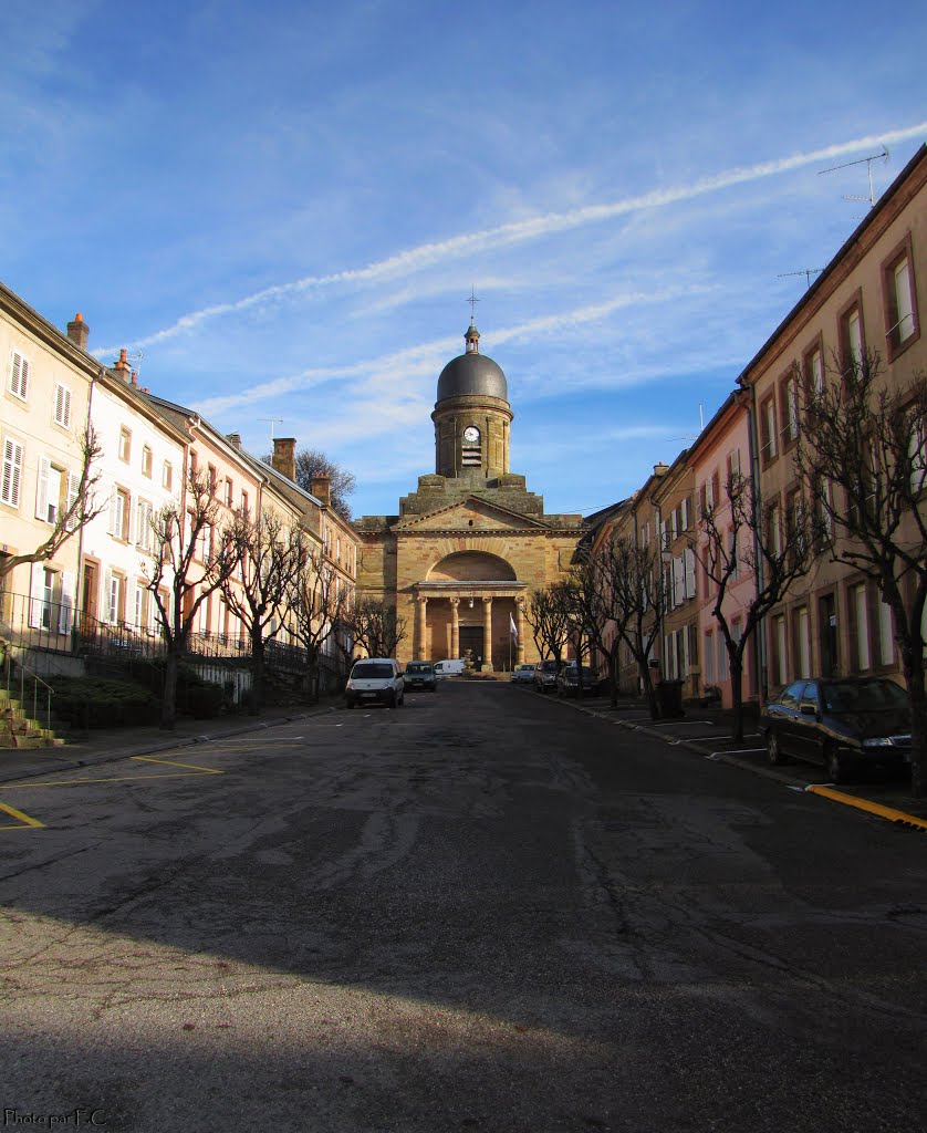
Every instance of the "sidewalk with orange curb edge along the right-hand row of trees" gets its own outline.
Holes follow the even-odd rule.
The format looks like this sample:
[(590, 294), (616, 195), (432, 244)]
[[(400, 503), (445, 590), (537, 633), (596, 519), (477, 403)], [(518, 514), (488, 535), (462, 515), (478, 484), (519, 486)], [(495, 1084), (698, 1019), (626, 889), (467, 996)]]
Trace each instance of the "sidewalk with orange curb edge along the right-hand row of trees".
[[(743, 767), (754, 774), (776, 780), (800, 790), (811, 790), (823, 794), (834, 802), (852, 804), (848, 800), (859, 800), (862, 809), (888, 808), (902, 815), (927, 823), (927, 799), (915, 799), (911, 794), (910, 780), (905, 776), (878, 777), (877, 772), (866, 777), (860, 775), (858, 782), (831, 787), (823, 768), (813, 764), (794, 761), (785, 766), (771, 766), (763, 740), (757, 731), (757, 716), (754, 710), (745, 715), (743, 742), (731, 739), (732, 713), (717, 707), (701, 708), (687, 704), (686, 715), (681, 719), (652, 721), (643, 700), (630, 697), (619, 699), (618, 707), (612, 708), (607, 697), (587, 697), (581, 701), (564, 701), (582, 712), (590, 713), (627, 730), (639, 731), (663, 740), (672, 747), (686, 748), (717, 763)], [(827, 790), (817, 790), (818, 787)], [(840, 795), (845, 795), (847, 800)], [(885, 816), (883, 816), (885, 817)]]

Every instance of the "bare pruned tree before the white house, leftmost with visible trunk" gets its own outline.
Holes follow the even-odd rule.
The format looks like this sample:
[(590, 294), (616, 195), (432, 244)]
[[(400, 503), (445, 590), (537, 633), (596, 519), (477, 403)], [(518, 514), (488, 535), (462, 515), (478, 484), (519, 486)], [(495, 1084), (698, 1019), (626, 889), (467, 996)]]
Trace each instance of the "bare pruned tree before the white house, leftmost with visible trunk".
[(233, 530), (222, 525), (218, 484), (190, 467), (178, 499), (152, 518), (152, 551), (144, 564), (167, 647), (161, 726), (177, 722), (177, 674), (197, 612), (231, 578), (238, 562)]

